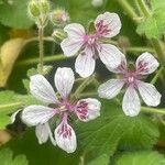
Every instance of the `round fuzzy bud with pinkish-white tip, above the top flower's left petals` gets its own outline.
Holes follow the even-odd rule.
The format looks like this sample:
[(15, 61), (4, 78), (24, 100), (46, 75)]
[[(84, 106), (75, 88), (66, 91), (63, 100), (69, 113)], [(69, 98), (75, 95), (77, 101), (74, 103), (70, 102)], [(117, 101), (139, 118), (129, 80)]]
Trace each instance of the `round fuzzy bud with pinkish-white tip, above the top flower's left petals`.
[(50, 14), (50, 19), (54, 25), (64, 26), (69, 21), (69, 15), (65, 10), (57, 9)]

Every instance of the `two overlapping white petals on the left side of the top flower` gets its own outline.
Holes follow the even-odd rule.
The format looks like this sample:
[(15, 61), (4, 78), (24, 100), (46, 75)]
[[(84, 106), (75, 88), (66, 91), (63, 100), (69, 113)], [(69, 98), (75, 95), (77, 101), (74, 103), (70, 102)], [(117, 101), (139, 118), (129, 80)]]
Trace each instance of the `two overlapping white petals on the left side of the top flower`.
[(81, 24), (72, 23), (65, 26), (68, 37), (61, 43), (61, 47), (66, 56), (75, 55), (84, 44), (85, 29)]

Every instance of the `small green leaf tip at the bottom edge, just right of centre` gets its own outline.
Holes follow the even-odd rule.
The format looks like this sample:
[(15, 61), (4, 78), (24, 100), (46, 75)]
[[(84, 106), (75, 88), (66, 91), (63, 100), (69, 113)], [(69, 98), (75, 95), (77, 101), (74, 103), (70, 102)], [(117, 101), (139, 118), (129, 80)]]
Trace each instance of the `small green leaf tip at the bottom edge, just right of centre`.
[(88, 163), (87, 165), (109, 165), (109, 156), (102, 154), (101, 156), (97, 157), (96, 160)]

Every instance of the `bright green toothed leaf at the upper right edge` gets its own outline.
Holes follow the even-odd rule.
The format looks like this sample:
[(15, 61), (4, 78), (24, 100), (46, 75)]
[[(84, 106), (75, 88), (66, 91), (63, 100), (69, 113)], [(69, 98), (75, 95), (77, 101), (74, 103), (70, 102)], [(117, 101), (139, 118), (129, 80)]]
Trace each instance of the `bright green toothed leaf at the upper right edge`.
[(165, 33), (165, 10), (158, 9), (153, 14), (143, 20), (138, 26), (140, 35), (145, 34), (147, 38), (160, 38)]

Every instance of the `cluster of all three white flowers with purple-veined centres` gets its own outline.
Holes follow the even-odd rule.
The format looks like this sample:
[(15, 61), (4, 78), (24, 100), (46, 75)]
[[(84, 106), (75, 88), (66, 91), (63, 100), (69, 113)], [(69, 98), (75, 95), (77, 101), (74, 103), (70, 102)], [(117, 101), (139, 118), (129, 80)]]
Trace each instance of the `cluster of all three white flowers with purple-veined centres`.
[[(142, 79), (155, 72), (157, 59), (150, 53), (143, 53), (136, 59), (135, 67), (130, 67), (124, 54), (111, 44), (105, 44), (103, 38), (116, 36), (121, 29), (121, 22), (116, 13), (105, 12), (96, 18), (95, 30), (86, 33), (81, 24), (72, 23), (64, 28), (67, 37), (61, 43), (64, 55), (78, 55), (75, 63), (76, 73), (81, 77), (89, 77), (95, 72), (96, 58), (100, 58), (106, 67), (118, 74), (119, 79), (110, 79), (100, 85), (100, 98), (112, 99), (127, 87), (122, 101), (122, 109), (127, 116), (138, 116), (141, 110), (139, 94), (147, 106), (156, 107), (161, 102), (161, 94), (152, 84)], [(54, 145), (58, 145), (67, 153), (73, 153), (77, 146), (76, 134), (68, 124), (69, 118), (76, 116), (87, 122), (100, 116), (101, 103), (94, 98), (73, 101), (70, 91), (75, 81), (70, 68), (57, 68), (54, 82), (55, 94), (51, 84), (42, 75), (31, 77), (31, 94), (46, 106), (29, 106), (22, 112), (22, 121), (30, 127), (36, 127), (38, 142), (45, 143), (48, 138)], [(52, 133), (51, 123), (56, 121), (56, 129)]]

